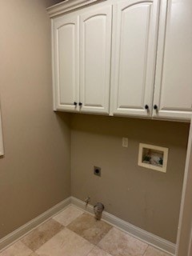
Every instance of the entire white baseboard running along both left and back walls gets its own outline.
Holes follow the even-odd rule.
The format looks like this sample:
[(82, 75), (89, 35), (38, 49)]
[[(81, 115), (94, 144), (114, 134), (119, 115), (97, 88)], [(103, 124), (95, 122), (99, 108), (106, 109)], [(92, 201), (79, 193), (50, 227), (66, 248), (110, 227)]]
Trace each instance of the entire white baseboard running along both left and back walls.
[[(6, 235), (5, 238), (0, 239), (0, 252), (2, 249), (5, 249), (6, 246), (10, 246), (10, 244), (22, 238), (35, 227), (42, 224), (42, 222), (45, 222), (47, 219), (52, 218), (55, 214), (58, 214), (59, 211), (65, 209), (66, 206), (69, 206), (70, 204), (78, 206), (80, 209), (89, 212), (90, 214), (94, 214), (94, 206), (91, 206), (89, 204), (86, 207), (86, 203), (82, 200), (79, 200), (78, 198), (66, 198), (62, 202), (59, 202), (56, 206), (50, 208), (49, 210), (46, 210), (45, 213), (40, 214), (37, 218), (32, 219), (30, 222), (27, 222), (25, 225), (19, 227), (17, 230), (14, 230), (12, 233)], [(125, 222), (122, 219), (107, 213), (106, 211), (103, 211), (102, 219), (106, 222), (109, 222), (111, 225), (116, 226), (123, 231), (126, 231), (135, 238), (138, 238), (143, 242), (150, 244), (151, 246), (154, 246), (169, 254), (175, 255), (176, 245), (172, 242), (159, 238), (157, 235), (142, 230), (137, 226), (130, 224), (129, 222)]]

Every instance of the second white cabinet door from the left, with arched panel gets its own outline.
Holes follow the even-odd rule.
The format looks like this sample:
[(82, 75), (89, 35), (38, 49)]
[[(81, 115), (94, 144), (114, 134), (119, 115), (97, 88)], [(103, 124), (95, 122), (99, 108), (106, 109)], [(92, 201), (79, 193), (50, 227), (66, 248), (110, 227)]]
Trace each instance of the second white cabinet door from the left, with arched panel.
[(109, 113), (111, 8), (94, 6), (80, 16), (80, 101), (84, 112)]

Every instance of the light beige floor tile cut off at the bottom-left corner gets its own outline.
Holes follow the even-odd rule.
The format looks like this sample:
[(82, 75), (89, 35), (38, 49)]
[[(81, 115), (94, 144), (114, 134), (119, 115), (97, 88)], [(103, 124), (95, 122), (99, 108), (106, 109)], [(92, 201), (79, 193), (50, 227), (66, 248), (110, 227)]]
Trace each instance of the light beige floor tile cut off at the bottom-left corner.
[(3, 250), (0, 256), (29, 256), (32, 253), (22, 242), (15, 242), (13, 246)]

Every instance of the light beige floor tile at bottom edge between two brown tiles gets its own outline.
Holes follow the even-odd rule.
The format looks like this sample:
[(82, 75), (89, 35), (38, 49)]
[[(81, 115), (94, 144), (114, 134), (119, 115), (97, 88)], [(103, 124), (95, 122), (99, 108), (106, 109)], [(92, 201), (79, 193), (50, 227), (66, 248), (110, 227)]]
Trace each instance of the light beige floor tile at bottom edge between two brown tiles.
[(86, 256), (94, 245), (74, 232), (65, 229), (40, 247), (39, 256)]

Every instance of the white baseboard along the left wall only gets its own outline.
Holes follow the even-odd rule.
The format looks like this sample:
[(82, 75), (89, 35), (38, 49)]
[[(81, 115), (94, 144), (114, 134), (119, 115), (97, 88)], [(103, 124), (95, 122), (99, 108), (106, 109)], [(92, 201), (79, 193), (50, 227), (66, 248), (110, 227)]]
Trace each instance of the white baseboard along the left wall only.
[(38, 215), (38, 217), (32, 219), (30, 222), (27, 222), (25, 225), (19, 227), (17, 230), (14, 230), (10, 234), (6, 235), (6, 237), (0, 239), (0, 252), (5, 249), (7, 246), (10, 246), (13, 242), (16, 242), (18, 239), (22, 238), (22, 236), (29, 233), (38, 225), (45, 222), (47, 219), (54, 216), (54, 214), (58, 214), (60, 210), (63, 210), (66, 206), (70, 204), (70, 197), (66, 198), (62, 202), (59, 202), (56, 206), (53, 206), (49, 210), (46, 210), (43, 214)]

